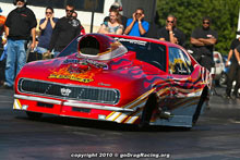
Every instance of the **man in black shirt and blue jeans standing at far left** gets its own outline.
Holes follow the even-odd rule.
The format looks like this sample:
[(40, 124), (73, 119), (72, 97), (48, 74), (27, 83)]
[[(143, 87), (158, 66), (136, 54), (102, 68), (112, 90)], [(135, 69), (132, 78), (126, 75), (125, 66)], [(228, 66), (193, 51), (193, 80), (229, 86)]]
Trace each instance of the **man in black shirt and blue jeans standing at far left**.
[(37, 21), (34, 12), (26, 7), (26, 0), (15, 0), (14, 4), (16, 9), (9, 13), (5, 21), (8, 50), (3, 88), (7, 89), (13, 88), (16, 74), (26, 63), (25, 46), (31, 35), (31, 48), (34, 49), (36, 44)]

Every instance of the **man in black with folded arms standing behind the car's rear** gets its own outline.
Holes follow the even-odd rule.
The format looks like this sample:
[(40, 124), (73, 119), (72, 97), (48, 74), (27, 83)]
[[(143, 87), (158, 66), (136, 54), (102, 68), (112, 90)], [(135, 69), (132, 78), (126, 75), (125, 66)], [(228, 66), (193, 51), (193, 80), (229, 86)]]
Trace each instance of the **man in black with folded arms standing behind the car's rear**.
[(213, 51), (217, 42), (217, 32), (211, 29), (211, 17), (203, 17), (203, 26), (193, 30), (190, 42), (192, 44), (193, 57), (208, 71), (214, 66)]

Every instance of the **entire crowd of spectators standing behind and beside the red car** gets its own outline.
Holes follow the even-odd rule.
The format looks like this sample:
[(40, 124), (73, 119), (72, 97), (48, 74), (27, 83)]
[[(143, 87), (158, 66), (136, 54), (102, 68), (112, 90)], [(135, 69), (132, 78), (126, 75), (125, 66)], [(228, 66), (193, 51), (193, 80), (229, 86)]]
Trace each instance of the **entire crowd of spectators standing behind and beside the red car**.
[[(55, 17), (51, 7), (47, 7), (45, 17), (39, 21), (40, 35), (38, 36), (36, 36), (36, 16), (27, 8), (26, 1), (14, 0), (14, 5), (15, 9), (7, 17), (0, 15), (0, 36), (2, 37), (0, 48), (3, 50), (0, 54), (0, 85), (7, 89), (13, 88), (15, 76), (27, 62), (27, 48), (40, 54), (40, 59), (46, 54), (57, 57), (73, 38), (85, 34), (72, 4), (65, 5), (65, 15), (60, 19)], [(110, 7), (109, 16), (104, 19), (97, 33), (157, 38), (184, 47), (185, 35), (177, 27), (177, 17), (173, 15), (169, 14), (166, 17), (164, 27), (154, 29), (156, 26), (144, 20), (145, 14), (142, 8), (137, 8), (130, 19), (121, 15), (121, 11), (122, 7), (115, 2)], [(218, 34), (211, 28), (211, 17), (204, 16), (202, 26), (196, 27), (190, 38), (193, 57), (209, 71), (214, 67), (213, 51), (218, 39)], [(240, 39), (232, 41), (226, 63), (228, 65), (232, 59), (226, 89), (227, 98), (231, 98), (230, 88), (235, 79), (237, 79), (237, 85), (233, 96), (239, 97), (237, 93), (240, 84), (239, 41)]]

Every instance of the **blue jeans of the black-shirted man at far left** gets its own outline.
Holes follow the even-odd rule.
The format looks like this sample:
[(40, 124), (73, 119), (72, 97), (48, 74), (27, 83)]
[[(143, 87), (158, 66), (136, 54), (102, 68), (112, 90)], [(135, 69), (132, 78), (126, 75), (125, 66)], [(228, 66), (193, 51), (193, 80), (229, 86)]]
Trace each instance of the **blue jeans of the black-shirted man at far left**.
[(8, 39), (5, 85), (12, 87), (15, 76), (26, 63), (26, 40)]

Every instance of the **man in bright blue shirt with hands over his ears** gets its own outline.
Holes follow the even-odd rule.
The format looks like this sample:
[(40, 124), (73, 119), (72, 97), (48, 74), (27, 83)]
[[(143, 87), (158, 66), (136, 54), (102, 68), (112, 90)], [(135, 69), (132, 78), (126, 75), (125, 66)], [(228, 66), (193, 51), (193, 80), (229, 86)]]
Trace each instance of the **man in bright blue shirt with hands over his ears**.
[(145, 37), (148, 32), (149, 23), (144, 21), (144, 10), (139, 8), (132, 14), (132, 19), (127, 22), (125, 35)]

